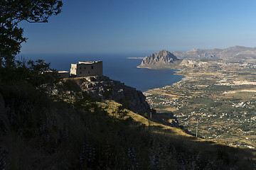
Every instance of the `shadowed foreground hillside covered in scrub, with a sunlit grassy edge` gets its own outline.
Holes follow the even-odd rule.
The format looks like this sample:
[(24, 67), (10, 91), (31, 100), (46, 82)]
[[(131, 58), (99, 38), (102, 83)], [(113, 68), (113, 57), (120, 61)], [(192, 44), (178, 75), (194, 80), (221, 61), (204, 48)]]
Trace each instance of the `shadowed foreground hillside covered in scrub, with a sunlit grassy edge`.
[(29, 65), (1, 70), (1, 169), (254, 168), (250, 150), (147, 123), (118, 103), (82, 93), (71, 81), (53, 83), (59, 79), (41, 74), (48, 69), (42, 61)]

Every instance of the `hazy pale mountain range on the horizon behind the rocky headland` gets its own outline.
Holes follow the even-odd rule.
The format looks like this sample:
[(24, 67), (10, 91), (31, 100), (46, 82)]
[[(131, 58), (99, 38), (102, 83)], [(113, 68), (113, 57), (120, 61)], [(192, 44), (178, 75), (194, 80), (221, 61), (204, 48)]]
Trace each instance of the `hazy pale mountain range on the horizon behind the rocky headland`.
[(174, 51), (173, 54), (181, 60), (255, 60), (256, 47), (234, 46), (212, 50), (192, 49), (188, 52)]

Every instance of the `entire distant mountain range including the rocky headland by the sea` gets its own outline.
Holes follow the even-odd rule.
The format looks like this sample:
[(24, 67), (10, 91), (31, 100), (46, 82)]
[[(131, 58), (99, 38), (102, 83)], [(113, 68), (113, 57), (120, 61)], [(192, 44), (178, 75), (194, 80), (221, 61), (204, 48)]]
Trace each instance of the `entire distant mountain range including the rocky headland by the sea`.
[(256, 60), (256, 47), (234, 46), (225, 49), (201, 50), (192, 49), (187, 52), (161, 50), (144, 57), (139, 68), (148, 69), (178, 69), (181, 67), (196, 67), (201, 62), (210, 60)]

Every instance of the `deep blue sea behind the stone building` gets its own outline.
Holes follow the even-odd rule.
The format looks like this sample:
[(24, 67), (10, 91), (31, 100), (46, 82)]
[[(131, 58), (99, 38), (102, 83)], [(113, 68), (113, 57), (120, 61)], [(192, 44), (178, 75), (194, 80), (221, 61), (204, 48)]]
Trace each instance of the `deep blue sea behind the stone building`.
[(127, 57), (144, 57), (144, 55), (56, 55), (56, 54), (23, 54), (22, 57), (31, 60), (50, 62), (50, 68), (70, 72), (70, 64), (83, 61), (103, 62), (103, 74), (110, 79), (118, 80), (139, 91), (159, 88), (180, 81), (183, 76), (175, 75), (174, 69), (139, 69), (142, 59), (127, 59)]

